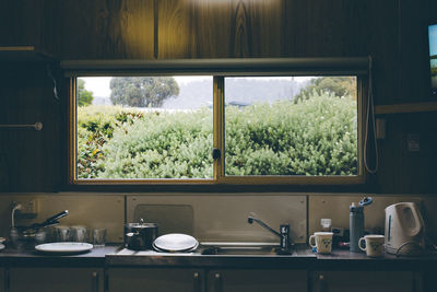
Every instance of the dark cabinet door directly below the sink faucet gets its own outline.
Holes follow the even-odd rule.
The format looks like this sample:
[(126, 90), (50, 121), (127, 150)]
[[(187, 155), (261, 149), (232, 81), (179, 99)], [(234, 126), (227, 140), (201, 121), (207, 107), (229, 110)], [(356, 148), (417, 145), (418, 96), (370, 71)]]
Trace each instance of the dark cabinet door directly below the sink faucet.
[(304, 270), (212, 270), (208, 275), (209, 292), (307, 291)]

